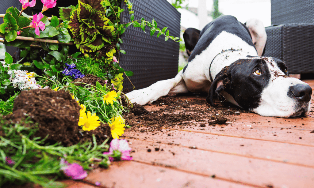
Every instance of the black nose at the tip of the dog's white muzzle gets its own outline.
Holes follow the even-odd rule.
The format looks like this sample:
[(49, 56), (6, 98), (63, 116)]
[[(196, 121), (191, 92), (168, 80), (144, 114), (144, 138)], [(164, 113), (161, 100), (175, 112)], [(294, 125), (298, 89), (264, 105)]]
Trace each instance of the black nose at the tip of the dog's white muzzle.
[(290, 96), (297, 98), (303, 102), (308, 102), (311, 100), (312, 88), (308, 84), (297, 84), (295, 86), (290, 86), (288, 91)]

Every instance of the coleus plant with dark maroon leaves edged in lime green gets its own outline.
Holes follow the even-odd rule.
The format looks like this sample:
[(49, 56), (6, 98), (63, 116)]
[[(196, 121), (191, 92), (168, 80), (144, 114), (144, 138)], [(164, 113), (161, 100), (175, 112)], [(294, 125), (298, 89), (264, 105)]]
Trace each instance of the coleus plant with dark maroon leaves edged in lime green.
[(73, 10), (69, 29), (76, 47), (84, 52), (95, 52), (111, 44), (115, 37), (112, 22), (104, 16), (106, 10), (95, 0), (78, 1)]

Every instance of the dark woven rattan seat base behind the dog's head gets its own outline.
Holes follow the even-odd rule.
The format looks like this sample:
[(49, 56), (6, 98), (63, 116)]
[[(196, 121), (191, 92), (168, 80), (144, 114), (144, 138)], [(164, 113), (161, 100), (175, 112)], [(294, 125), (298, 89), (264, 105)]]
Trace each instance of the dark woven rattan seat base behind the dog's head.
[(266, 28), (265, 56), (283, 60), (290, 74), (314, 73), (314, 24)]

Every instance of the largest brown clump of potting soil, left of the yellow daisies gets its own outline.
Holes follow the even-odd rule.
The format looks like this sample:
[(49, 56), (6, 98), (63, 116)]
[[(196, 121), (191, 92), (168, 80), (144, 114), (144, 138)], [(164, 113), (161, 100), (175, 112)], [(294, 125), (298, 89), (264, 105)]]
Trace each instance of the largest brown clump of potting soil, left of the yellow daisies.
[(18, 122), (29, 116), (39, 126), (35, 136), (45, 138), (49, 134), (49, 142), (73, 145), (78, 139), (80, 109), (68, 92), (35, 89), (21, 92), (14, 101), (13, 114), (6, 119)]

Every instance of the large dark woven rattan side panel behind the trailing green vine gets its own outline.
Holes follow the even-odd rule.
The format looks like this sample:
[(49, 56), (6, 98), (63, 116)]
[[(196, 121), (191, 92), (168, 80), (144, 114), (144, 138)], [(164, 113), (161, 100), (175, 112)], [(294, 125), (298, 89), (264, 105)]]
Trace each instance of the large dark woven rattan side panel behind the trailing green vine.
[[(181, 14), (166, 0), (134, 0), (134, 20), (142, 17), (147, 21), (155, 21), (158, 28), (168, 27), (170, 35), (180, 36)], [(122, 1), (124, 12), (121, 13), (121, 23), (130, 22), (130, 14)], [(129, 77), (136, 89), (148, 87), (156, 81), (166, 80), (176, 76), (178, 72), (179, 43), (160, 35), (157, 32), (150, 36), (150, 28), (146, 33), (141, 28), (130, 26), (122, 34), (121, 49), (126, 54), (120, 55), (120, 65), (124, 70), (131, 70), (134, 76)], [(124, 76), (123, 88), (133, 90), (130, 81)]]

